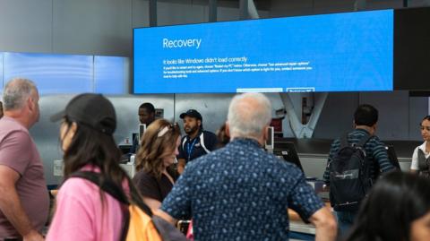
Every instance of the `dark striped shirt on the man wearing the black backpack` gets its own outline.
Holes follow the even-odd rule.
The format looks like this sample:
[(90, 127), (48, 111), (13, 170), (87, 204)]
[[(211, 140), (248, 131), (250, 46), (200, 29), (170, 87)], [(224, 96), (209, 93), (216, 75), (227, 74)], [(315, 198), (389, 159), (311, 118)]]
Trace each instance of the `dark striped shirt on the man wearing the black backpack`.
[[(364, 129), (356, 129), (351, 133), (348, 133), (348, 143), (349, 144), (356, 144), (361, 141), (363, 136), (366, 134), (369, 134)], [(329, 159), (327, 161), (327, 167), (325, 168), (324, 172), (324, 182), (326, 185), (330, 185), (330, 170), (329, 170), (329, 163), (333, 159), (333, 157), (338, 153), (340, 149), (340, 139), (334, 140), (334, 142), (331, 143), (331, 150), (329, 153)], [(378, 173), (375, 173), (375, 163), (378, 165), (378, 169), (380, 172), (387, 172), (391, 169), (394, 169), (394, 166), (391, 165), (390, 159), (388, 159), (388, 153), (385, 149), (385, 145), (383, 142), (379, 140), (379, 138), (375, 135), (370, 137), (370, 139), (365, 144), (365, 151), (366, 151), (366, 157), (367, 160), (370, 162), (370, 169), (371, 169), (371, 176), (372, 179), (375, 179), (377, 177)]]

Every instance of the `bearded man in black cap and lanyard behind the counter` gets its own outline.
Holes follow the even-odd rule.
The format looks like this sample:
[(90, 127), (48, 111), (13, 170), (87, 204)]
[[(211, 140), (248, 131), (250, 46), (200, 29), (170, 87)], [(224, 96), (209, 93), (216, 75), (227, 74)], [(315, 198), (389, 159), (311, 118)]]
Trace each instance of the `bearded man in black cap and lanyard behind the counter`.
[(189, 109), (179, 117), (184, 120), (186, 133), (181, 140), (179, 155), (177, 155), (177, 171), (182, 173), (188, 161), (213, 151), (218, 140), (215, 133), (203, 131), (202, 115), (197, 110)]

